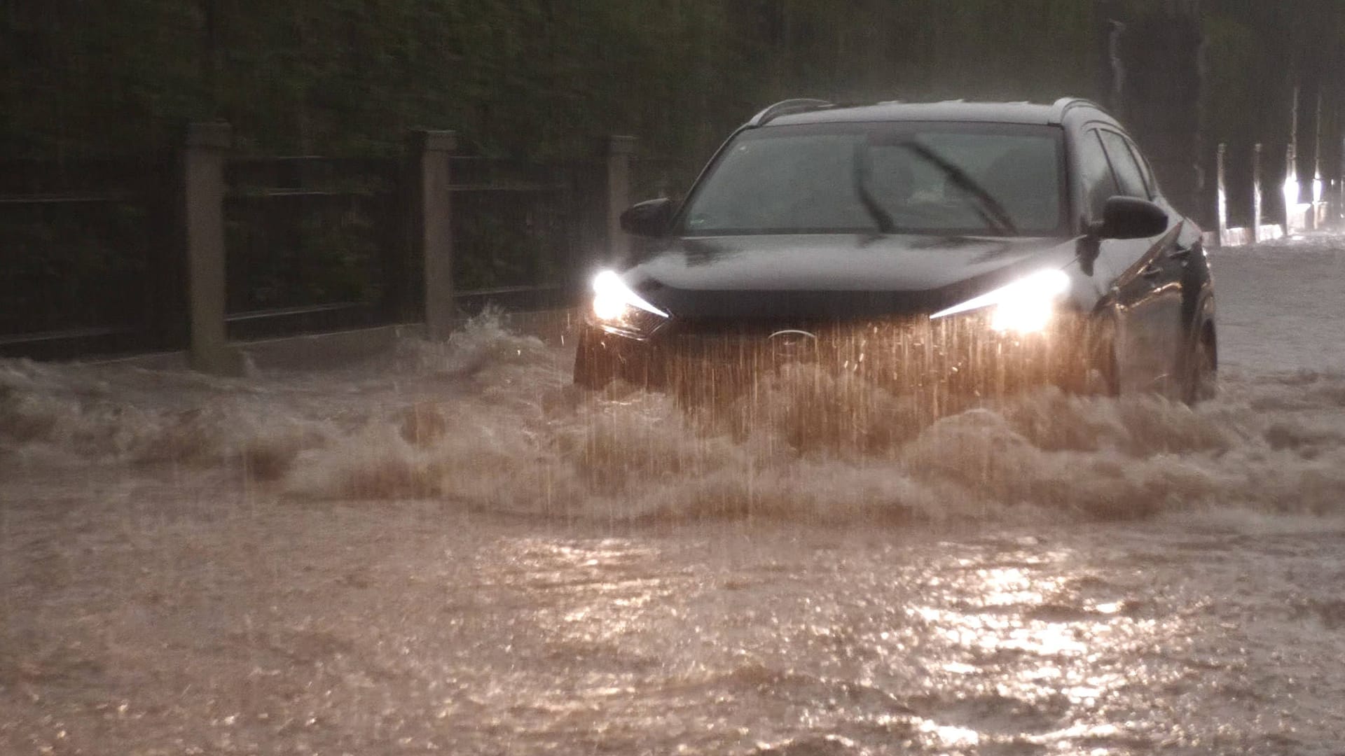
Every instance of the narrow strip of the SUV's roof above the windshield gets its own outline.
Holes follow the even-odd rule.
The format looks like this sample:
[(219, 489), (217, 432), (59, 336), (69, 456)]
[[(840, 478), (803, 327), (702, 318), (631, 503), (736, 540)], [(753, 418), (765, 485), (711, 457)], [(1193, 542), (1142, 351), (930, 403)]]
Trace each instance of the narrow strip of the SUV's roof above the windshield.
[(1092, 110), (1092, 120), (1112, 121), (1102, 108), (1079, 98), (1040, 102), (877, 102), (873, 105), (831, 105), (820, 100), (787, 100), (757, 113), (749, 126), (873, 121), (968, 121), (987, 124), (1059, 125), (1075, 108)]

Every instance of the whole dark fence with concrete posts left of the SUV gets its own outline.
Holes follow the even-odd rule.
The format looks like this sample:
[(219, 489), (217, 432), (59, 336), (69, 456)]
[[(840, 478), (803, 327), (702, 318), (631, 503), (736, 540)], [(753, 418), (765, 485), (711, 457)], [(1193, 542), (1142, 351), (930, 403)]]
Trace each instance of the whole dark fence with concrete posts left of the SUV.
[(408, 145), (246, 157), (227, 124), (196, 124), (172, 156), (7, 164), (0, 356), (187, 348), (233, 373), (241, 339), (391, 323), (443, 336), (488, 304), (566, 304), (627, 249), (632, 180), (667, 191), (678, 175), (636, 160), (631, 137), (551, 163), (459, 155), (452, 132)]

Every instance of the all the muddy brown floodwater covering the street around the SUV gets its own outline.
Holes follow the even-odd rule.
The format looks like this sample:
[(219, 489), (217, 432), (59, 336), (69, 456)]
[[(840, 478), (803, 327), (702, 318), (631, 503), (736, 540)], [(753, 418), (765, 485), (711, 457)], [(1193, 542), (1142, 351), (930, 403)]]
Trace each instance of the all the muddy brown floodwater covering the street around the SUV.
[(0, 753), (1345, 753), (1342, 250), (1215, 256), (1196, 410), (0, 362)]

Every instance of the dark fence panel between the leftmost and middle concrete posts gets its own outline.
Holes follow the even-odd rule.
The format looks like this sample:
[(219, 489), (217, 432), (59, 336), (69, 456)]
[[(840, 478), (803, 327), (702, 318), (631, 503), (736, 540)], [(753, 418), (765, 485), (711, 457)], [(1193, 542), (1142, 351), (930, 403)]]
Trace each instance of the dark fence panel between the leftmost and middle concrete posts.
[(399, 161), (229, 160), (225, 183), (230, 339), (378, 326), (408, 313)]

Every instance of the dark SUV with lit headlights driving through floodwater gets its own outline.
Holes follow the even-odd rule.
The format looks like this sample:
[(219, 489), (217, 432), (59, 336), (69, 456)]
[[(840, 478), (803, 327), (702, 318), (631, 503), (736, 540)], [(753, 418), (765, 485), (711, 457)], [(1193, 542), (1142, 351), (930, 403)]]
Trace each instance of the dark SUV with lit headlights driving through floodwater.
[(963, 395), (1213, 391), (1201, 231), (1088, 101), (780, 102), (621, 226), (646, 241), (593, 280), (581, 386), (818, 362)]

